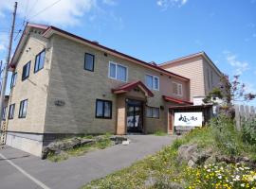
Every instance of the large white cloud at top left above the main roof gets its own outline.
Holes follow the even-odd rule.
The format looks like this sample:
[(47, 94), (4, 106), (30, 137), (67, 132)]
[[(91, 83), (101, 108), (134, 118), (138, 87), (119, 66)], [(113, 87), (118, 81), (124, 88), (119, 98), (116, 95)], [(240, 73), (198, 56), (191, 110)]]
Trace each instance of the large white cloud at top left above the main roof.
[[(4, 16), (6, 10), (11, 11), (13, 9), (14, 1), (1, 1), (0, 16)], [(108, 5), (115, 3), (114, 0), (24, 0), (18, 2), (17, 14), (22, 19), (27, 16), (28, 21), (34, 23), (77, 26), (82, 24), (82, 17), (86, 13), (96, 12), (100, 9), (98, 7), (99, 1)], [(39, 13), (41, 11), (42, 13)]]

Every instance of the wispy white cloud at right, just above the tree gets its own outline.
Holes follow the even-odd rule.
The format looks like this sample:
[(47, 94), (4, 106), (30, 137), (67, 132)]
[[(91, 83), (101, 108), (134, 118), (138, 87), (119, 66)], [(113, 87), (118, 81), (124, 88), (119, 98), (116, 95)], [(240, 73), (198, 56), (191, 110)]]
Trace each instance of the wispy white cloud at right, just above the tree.
[(238, 60), (237, 55), (230, 53), (229, 51), (223, 52), (226, 56), (226, 60), (229, 65), (234, 68), (235, 75), (242, 75), (245, 71), (248, 70), (248, 62), (244, 60)]

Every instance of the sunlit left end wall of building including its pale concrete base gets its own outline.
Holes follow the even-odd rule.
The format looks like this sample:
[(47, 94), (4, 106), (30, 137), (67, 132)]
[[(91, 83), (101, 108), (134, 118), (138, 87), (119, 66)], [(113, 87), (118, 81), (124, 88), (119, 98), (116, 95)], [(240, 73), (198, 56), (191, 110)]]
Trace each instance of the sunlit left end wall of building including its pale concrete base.
[[(42, 146), (42, 140), (38, 140), (35, 136), (44, 133), (51, 48), (46, 38), (38, 34), (40, 30), (34, 31), (36, 32), (32, 31), (28, 34), (26, 46), (15, 68), (15, 72), (18, 73), (17, 80), (9, 94), (9, 105), (15, 103), (15, 111), (14, 118), (8, 119), (8, 107), (7, 124), (9, 132), (7, 144), (37, 155), (40, 146)], [(44, 69), (34, 73), (35, 57), (45, 48)], [(23, 66), (29, 60), (31, 60), (29, 77), (22, 81)], [(26, 118), (18, 118), (20, 102), (25, 99), (27, 99), (27, 116)], [(24, 137), (24, 134), (26, 137)]]

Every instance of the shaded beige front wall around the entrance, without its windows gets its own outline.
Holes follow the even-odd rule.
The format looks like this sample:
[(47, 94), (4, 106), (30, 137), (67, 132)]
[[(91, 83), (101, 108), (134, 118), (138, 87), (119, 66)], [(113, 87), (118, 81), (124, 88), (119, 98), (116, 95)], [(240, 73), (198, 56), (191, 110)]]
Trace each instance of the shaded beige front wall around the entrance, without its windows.
[[(111, 89), (125, 84), (108, 77), (109, 61), (128, 67), (128, 82), (141, 80), (150, 74), (160, 78), (160, 90), (153, 91), (155, 97), (148, 99), (148, 105), (164, 106), (162, 95), (173, 95), (174, 77), (161, 76), (158, 72), (122, 60), (81, 43), (75, 43), (60, 36), (53, 36), (53, 55), (46, 108), (46, 132), (56, 133), (100, 133), (116, 132), (117, 94)], [(84, 53), (95, 55), (94, 72), (83, 70)], [(184, 86), (183, 99), (188, 99), (188, 83), (177, 80)], [(95, 118), (96, 99), (113, 102), (112, 119)], [(56, 100), (63, 100), (64, 106), (55, 106)], [(160, 120), (146, 119), (148, 128), (167, 128), (167, 109), (160, 111)], [(151, 129), (154, 130), (154, 129)]]

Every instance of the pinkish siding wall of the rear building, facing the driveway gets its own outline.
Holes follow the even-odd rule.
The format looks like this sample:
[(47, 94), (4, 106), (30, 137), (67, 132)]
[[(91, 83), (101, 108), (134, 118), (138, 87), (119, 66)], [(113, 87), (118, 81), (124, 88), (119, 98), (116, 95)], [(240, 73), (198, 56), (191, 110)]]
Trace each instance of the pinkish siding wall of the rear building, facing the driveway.
[(193, 99), (193, 96), (205, 95), (205, 79), (202, 58), (193, 58), (191, 60), (184, 60), (182, 62), (174, 62), (169, 65), (164, 65), (162, 66), (162, 68), (177, 75), (188, 77), (191, 79), (191, 101)]

